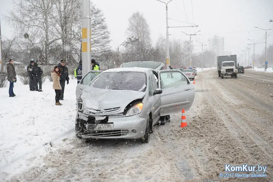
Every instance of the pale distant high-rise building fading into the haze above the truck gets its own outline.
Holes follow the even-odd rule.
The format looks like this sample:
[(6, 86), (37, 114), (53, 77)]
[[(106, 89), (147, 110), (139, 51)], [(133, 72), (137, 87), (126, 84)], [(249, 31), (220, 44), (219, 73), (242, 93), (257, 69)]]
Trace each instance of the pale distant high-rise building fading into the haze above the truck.
[(214, 36), (209, 39), (209, 47), (212, 52), (214, 52), (214, 63), (217, 62), (217, 56), (224, 55), (224, 37)]

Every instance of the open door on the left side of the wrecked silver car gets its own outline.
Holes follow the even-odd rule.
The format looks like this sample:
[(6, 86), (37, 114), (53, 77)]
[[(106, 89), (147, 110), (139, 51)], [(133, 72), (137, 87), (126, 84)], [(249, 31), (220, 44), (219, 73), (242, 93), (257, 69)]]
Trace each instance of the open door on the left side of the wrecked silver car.
[(94, 79), (98, 76), (102, 71), (101, 70), (92, 70), (88, 72), (80, 81), (80, 83), (76, 86), (76, 98), (80, 97), (82, 94), (82, 90)]

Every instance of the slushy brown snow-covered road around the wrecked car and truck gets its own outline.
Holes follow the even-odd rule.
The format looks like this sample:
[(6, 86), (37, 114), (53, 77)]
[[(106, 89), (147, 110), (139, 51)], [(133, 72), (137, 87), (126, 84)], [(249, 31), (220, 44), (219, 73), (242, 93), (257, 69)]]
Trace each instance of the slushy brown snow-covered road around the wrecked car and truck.
[(200, 72), (186, 128), (177, 114), (154, 128), (148, 144), (85, 143), (72, 134), (11, 181), (222, 181), (225, 164), (267, 165), (267, 178), (247, 181), (273, 181), (273, 78), (266, 75), (246, 70), (221, 79), (216, 70)]

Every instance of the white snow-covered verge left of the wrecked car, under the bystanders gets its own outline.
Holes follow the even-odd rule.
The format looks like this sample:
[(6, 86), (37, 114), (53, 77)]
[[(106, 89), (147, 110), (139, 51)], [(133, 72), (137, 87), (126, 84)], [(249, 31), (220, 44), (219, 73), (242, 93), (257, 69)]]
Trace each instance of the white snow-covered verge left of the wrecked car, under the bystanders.
[(74, 132), (77, 80), (70, 79), (65, 86), (63, 106), (55, 105), (52, 83), (46, 80), (44, 92), (32, 92), (18, 80), (14, 98), (9, 97), (9, 84), (0, 88), (0, 181), (35, 165), (51, 141), (58, 142)]

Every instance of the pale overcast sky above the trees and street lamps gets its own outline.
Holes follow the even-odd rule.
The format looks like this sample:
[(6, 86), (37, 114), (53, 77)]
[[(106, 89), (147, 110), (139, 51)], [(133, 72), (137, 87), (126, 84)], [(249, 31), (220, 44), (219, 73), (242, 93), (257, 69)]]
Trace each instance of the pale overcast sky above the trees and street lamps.
[[(167, 2), (167, 0), (162, 0)], [(183, 5), (185, 4), (185, 8)], [(156, 0), (92, 0), (106, 17), (111, 32), (111, 46), (117, 48), (126, 38), (128, 18), (133, 12), (139, 11), (144, 15), (150, 26), (151, 38), (156, 40), (163, 35), (166, 37), (166, 5)], [(191, 4), (192, 2), (192, 4)], [(1, 31), (6, 37), (11, 37), (12, 29), (3, 18), (12, 9), (12, 2), (0, 0)], [(193, 8), (192, 8), (193, 5)], [(273, 29), (273, 0), (173, 0), (169, 3), (169, 26), (187, 26), (188, 23), (198, 25), (197, 28), (169, 28), (170, 39), (189, 39), (185, 33), (195, 33), (193, 45), (199, 45), (214, 35), (224, 37), (224, 50), (232, 54), (242, 54), (244, 46), (253, 41), (264, 42), (265, 31), (256, 29)], [(186, 10), (186, 11), (185, 11)], [(187, 15), (187, 17), (186, 17)], [(176, 20), (176, 21), (175, 21)], [(182, 23), (186, 22), (186, 23)], [(241, 33), (231, 33), (241, 32)], [(273, 43), (273, 30), (268, 31), (268, 44)], [(271, 35), (271, 36), (270, 36)], [(208, 43), (206, 43), (208, 45)], [(201, 51), (201, 46), (195, 46), (195, 52)], [(264, 44), (255, 47), (255, 53), (261, 53)]]

